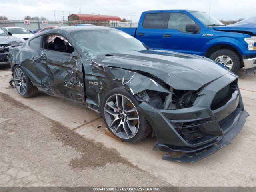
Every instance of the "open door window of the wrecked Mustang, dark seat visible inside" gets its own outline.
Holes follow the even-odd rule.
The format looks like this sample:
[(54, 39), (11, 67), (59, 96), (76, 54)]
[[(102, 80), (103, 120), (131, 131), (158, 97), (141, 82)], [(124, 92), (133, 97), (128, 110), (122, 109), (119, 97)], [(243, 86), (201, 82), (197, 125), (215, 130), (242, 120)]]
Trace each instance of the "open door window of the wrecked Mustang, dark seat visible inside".
[(72, 53), (74, 48), (72, 45), (62, 36), (58, 35), (48, 35), (44, 36), (44, 49)]

